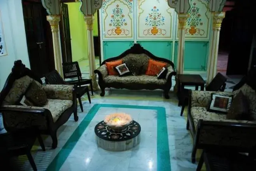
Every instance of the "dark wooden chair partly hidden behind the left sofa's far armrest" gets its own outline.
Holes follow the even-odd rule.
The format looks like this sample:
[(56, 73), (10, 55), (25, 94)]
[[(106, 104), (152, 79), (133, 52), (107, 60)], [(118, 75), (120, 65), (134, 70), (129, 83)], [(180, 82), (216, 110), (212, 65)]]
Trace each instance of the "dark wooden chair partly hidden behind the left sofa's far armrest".
[[(58, 71), (56, 71), (56, 70), (53, 70), (52, 72), (49, 72), (49, 73), (45, 74), (44, 77), (45, 77), (46, 84), (67, 84), (63, 80), (63, 78), (60, 76)], [(89, 103), (91, 103), (91, 98), (90, 98), (90, 93), (89, 93), (88, 86), (87, 85), (86, 86), (79, 86), (79, 87), (77, 86), (75, 91), (76, 91), (76, 97), (78, 98), (81, 111), (83, 112), (84, 109), (83, 109), (83, 105), (82, 105), (82, 101), (81, 101), (82, 95), (87, 93)]]

